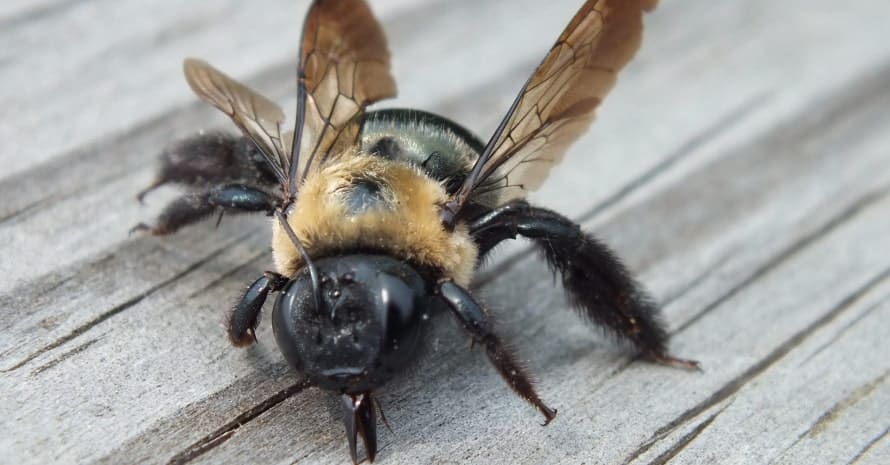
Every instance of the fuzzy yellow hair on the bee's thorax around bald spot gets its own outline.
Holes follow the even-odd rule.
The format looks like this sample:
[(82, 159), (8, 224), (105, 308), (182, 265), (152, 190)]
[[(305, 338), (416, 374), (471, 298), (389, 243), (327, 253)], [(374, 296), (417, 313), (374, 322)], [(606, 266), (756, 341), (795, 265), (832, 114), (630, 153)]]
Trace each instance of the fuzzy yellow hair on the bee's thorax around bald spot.
[[(345, 196), (355, 180), (384, 186), (382, 194), (391, 208), (349, 215)], [(438, 205), (446, 200), (445, 189), (411, 165), (344, 154), (306, 178), (287, 221), (312, 258), (379, 251), (439, 270), (442, 277), (467, 286), (478, 248), (466, 225), (459, 224), (453, 232), (442, 227)], [(302, 257), (281, 225), (273, 225), (275, 267), (294, 276), (303, 266)]]

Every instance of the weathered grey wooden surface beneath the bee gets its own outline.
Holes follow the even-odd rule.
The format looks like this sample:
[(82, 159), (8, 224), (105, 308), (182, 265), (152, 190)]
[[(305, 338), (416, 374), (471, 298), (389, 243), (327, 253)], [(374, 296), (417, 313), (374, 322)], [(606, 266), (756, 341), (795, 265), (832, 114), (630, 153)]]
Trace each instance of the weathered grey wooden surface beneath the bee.
[[(325, 394), (268, 321), (223, 317), (271, 266), (263, 218), (132, 237), (156, 153), (230, 126), (199, 56), (291, 108), (305, 1), (0, 6), (0, 462), (345, 464)], [(400, 97), (487, 135), (579, 1), (372, 2)], [(594, 230), (704, 373), (634, 361), (505, 247), (479, 276), (559, 408), (548, 427), (443, 320), (382, 397), (383, 464), (890, 463), (886, 0), (666, 0), (534, 201)]]

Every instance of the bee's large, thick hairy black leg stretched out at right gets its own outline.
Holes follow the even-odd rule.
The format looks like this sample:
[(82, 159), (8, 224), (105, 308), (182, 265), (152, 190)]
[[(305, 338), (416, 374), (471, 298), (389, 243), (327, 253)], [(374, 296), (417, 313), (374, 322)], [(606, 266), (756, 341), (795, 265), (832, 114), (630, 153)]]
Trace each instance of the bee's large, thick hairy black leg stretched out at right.
[(517, 235), (534, 240), (562, 276), (575, 306), (592, 322), (630, 341), (654, 361), (698, 369), (698, 362), (670, 355), (658, 306), (618, 257), (573, 221), (520, 201), (479, 217), (470, 231), (482, 253)]

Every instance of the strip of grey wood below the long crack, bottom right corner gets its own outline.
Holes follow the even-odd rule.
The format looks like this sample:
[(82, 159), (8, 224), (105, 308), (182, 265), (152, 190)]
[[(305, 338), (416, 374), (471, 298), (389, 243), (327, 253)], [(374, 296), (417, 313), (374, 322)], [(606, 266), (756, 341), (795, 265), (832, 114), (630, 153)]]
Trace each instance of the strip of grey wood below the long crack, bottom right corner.
[(886, 345), (888, 277), (865, 283), (811, 334), (792, 339), (799, 345), (789, 344), (776, 363), (632, 463), (850, 462), (890, 426), (881, 407), (890, 395), (890, 365), (876, 350)]

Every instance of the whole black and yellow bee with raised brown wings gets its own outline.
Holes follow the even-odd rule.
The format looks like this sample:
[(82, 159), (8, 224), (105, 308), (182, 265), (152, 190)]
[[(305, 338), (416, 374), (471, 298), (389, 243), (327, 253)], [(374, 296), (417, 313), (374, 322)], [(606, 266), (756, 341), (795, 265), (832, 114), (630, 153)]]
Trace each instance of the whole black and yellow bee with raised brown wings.
[[(590, 125), (640, 46), (657, 0), (588, 0), (483, 142), (418, 110), (367, 107), (396, 94), (383, 31), (362, 0), (316, 0), (300, 42), (293, 130), (269, 99), (196, 60), (185, 76), (240, 137), (207, 133), (161, 155), (155, 181), (186, 193), (153, 225), (171, 234), (214, 214), (265, 212), (275, 271), (241, 295), (228, 337), (256, 342), (270, 293), (275, 341), (312, 385), (342, 400), (352, 461), (377, 452), (375, 392), (415, 362), (432, 316), (453, 317), (507, 385), (556, 416), (467, 290), (497, 244), (524, 237), (543, 253), (582, 316), (655, 362), (697, 368), (667, 349), (660, 310), (606, 245), (526, 194)], [(385, 421), (385, 420), (384, 420)]]

